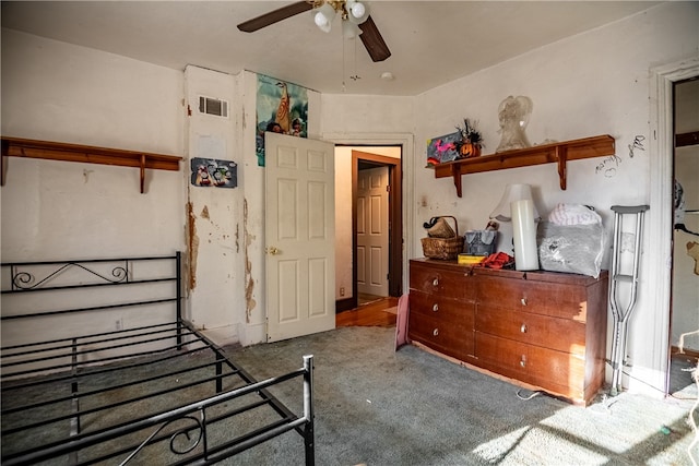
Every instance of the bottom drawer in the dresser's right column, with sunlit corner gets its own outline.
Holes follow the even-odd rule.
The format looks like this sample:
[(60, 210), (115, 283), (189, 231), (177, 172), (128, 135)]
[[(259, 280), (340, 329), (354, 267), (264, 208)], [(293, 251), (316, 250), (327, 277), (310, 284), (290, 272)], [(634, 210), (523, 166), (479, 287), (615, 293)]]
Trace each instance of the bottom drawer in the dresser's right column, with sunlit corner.
[(507, 338), (475, 334), (478, 365), (556, 394), (584, 397), (584, 359), (568, 353), (526, 345)]

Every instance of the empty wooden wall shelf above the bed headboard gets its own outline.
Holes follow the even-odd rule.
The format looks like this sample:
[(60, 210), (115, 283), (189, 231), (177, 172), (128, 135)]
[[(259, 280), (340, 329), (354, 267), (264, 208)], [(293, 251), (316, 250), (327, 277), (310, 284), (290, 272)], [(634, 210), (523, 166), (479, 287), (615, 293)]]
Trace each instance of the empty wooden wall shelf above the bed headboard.
[(144, 192), (145, 188), (146, 168), (179, 171), (179, 162), (182, 159), (182, 157), (174, 155), (2, 136), (2, 166), (0, 174), (2, 186), (4, 186), (5, 157), (8, 156), (140, 168), (141, 193)]

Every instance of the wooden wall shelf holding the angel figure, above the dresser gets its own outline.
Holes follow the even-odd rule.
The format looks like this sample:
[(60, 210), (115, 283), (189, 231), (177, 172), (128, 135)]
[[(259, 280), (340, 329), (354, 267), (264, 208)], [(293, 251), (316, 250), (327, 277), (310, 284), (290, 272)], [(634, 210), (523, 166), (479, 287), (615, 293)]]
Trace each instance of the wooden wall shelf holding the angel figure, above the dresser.
[(615, 151), (614, 138), (603, 134), (447, 162), (435, 166), (435, 178), (452, 177), (457, 187), (457, 195), (461, 198), (461, 178), (463, 175), (555, 163), (558, 165), (560, 189), (565, 190), (568, 160), (605, 157), (614, 155)]

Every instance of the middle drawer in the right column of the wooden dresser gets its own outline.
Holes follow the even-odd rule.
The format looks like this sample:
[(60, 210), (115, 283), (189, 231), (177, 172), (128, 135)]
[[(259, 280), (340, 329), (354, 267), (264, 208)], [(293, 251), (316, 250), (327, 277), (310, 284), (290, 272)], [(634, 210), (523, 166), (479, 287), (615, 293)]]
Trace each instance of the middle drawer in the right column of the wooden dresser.
[(523, 311), (509, 311), (478, 303), (477, 332), (536, 345), (544, 348), (585, 355), (585, 324)]

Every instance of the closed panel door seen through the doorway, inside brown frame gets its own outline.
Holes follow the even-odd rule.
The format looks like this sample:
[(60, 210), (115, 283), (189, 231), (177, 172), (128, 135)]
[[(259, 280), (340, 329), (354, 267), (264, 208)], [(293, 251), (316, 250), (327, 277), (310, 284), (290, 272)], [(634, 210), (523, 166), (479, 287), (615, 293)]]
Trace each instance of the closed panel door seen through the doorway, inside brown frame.
[(389, 169), (359, 170), (357, 291), (389, 296)]

